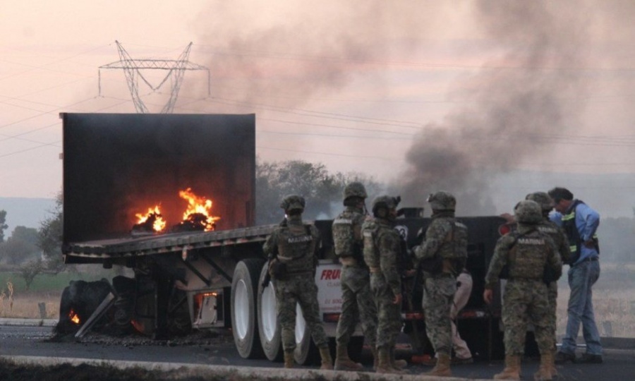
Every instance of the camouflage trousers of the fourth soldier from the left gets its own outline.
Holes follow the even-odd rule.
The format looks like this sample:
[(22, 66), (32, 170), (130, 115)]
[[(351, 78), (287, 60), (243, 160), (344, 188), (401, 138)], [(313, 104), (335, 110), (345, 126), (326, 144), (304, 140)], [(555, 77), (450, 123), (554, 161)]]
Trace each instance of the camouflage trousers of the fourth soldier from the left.
[(423, 284), (425, 333), (435, 352), (452, 353), (452, 318), (450, 310), (456, 293), (456, 279), (451, 275), (426, 277)]

